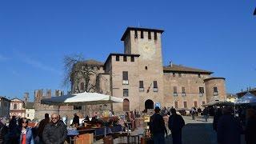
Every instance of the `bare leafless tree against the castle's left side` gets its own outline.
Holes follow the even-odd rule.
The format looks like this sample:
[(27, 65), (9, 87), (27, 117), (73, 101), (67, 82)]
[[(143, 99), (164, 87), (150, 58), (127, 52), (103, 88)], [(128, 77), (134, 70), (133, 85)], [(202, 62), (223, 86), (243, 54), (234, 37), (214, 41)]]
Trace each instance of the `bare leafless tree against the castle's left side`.
[[(98, 71), (97, 66), (84, 61), (82, 54), (69, 55), (64, 57), (64, 86), (71, 85), (73, 93), (97, 91)], [(92, 78), (95, 77), (93, 80)], [(83, 82), (83, 85), (80, 85)], [(82, 86), (82, 87), (81, 87)]]

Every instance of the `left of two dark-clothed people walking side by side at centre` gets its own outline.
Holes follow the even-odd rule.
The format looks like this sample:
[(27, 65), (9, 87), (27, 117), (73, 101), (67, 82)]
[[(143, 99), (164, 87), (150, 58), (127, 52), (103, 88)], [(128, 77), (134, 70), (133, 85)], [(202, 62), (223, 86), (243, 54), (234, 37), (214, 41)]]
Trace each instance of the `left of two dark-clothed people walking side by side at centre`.
[(165, 134), (167, 135), (166, 125), (160, 114), (158, 106), (154, 109), (154, 114), (150, 117), (150, 133), (152, 134), (154, 144), (165, 144)]

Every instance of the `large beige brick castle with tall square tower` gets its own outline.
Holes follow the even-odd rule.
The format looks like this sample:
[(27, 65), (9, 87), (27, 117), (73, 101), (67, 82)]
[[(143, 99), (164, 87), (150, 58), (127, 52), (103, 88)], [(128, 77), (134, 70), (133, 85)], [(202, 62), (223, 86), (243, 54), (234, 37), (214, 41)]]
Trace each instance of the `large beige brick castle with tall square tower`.
[[(225, 78), (213, 78), (208, 70), (162, 65), (163, 30), (128, 27), (122, 35), (123, 54), (110, 54), (106, 62), (88, 60), (98, 73), (91, 78), (94, 91), (124, 99), (114, 111), (174, 106), (200, 107), (212, 100), (225, 100)], [(82, 91), (84, 82), (71, 82), (72, 92)]]

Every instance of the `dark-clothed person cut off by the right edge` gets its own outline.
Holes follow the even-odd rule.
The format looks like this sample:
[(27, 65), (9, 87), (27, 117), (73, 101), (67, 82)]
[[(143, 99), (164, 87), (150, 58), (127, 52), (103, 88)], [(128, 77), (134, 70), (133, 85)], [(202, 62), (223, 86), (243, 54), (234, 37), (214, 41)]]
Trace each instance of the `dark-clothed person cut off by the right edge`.
[(246, 144), (256, 143), (256, 110), (246, 110)]

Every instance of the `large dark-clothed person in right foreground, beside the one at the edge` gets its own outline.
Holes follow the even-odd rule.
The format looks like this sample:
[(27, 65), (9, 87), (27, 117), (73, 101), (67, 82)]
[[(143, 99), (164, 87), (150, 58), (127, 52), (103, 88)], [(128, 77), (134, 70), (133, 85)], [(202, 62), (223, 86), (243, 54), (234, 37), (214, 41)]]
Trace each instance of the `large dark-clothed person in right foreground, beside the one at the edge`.
[(222, 117), (218, 119), (217, 140), (218, 144), (240, 144), (242, 125), (238, 118), (232, 115), (232, 108), (225, 107)]

